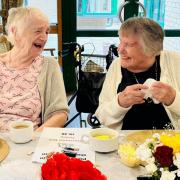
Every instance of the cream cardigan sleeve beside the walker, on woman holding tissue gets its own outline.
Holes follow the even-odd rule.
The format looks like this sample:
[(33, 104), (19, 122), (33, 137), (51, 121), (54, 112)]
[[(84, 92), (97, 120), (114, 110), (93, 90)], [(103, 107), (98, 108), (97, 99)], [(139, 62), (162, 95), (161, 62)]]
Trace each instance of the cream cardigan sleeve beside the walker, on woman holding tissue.
[(101, 124), (117, 129), (121, 128), (121, 120), (129, 108), (120, 107), (118, 104), (117, 88), (121, 81), (120, 60), (116, 59), (111, 64), (99, 96), (99, 107), (95, 115)]

